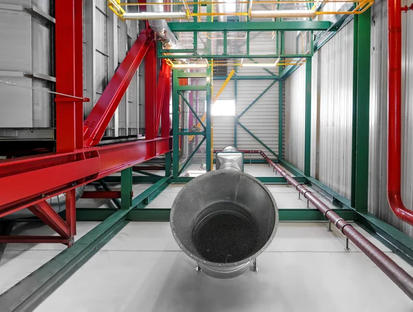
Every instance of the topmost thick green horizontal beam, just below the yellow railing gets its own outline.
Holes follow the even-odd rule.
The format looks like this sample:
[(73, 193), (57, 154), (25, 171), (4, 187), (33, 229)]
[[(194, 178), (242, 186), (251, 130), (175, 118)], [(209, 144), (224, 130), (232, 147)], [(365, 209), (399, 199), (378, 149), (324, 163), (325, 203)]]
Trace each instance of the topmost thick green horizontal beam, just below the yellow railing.
[(331, 26), (330, 21), (259, 21), (259, 22), (189, 22), (168, 23), (172, 32), (222, 32), (226, 31), (253, 31), (253, 32), (272, 32), (272, 31), (319, 31), (328, 30)]

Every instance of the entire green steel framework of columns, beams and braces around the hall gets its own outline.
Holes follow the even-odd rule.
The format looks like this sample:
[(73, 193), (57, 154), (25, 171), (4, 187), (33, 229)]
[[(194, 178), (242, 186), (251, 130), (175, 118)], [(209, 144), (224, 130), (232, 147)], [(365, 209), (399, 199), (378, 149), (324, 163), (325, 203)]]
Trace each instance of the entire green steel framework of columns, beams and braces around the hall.
[[(211, 12), (211, 6), (207, 6), (207, 12)], [(280, 37), (280, 45), (277, 51), (280, 56), (285, 56), (284, 52), (284, 31), (303, 30), (303, 31), (319, 31), (321, 32), (315, 38), (314, 50), (318, 50), (324, 45), (340, 27), (345, 25), (352, 17), (337, 17), (331, 23), (327, 21), (295, 21), (284, 22), (275, 21), (271, 23), (212, 23), (212, 17), (209, 18), (209, 23), (169, 23), (171, 30), (174, 32), (193, 32), (194, 38), (199, 31), (247, 31), (249, 37), (250, 31), (273, 31), (277, 30), (277, 38)], [(265, 143), (260, 141), (257, 136), (250, 132), (244, 125), (240, 123), (240, 117), (252, 107), (266, 92), (262, 92), (260, 96), (247, 107), (240, 116), (234, 118), (234, 145), (237, 145), (237, 125), (243, 127), (246, 132), (251, 134), (258, 142), (266, 147), (272, 154), (277, 157), (276, 162), (281, 163), (286, 169), (295, 175), (295, 179), (300, 183), (311, 185), (315, 189), (325, 194), (332, 201), (332, 204), (337, 207), (337, 213), (346, 220), (353, 220), (358, 225), (366, 229), (372, 236), (383, 242), (394, 253), (397, 253), (401, 258), (413, 265), (413, 240), (406, 236), (401, 231), (395, 229), (388, 223), (380, 220), (376, 216), (368, 213), (368, 116), (369, 116), (369, 94), (363, 92), (368, 89), (370, 81), (370, 20), (371, 12), (366, 11), (354, 19), (354, 101), (353, 101), (353, 140), (352, 140), (352, 193), (351, 200), (337, 194), (323, 183), (310, 176), (310, 129), (311, 129), (311, 55), (306, 55), (306, 109), (305, 109), (305, 158), (304, 171), (301, 171), (294, 165), (284, 160), (283, 155), (283, 124), (284, 124), (284, 103), (283, 103), (283, 85), (285, 79), (292, 74), (297, 66), (280, 67), (279, 76), (257, 76), (255, 79), (273, 79), (273, 82), (266, 90), (276, 82), (279, 83), (279, 136), (278, 136), (278, 154), (275, 154), (268, 148)], [(218, 29), (219, 28), (219, 29)], [(312, 36), (313, 37), (313, 36)], [(196, 40), (195, 40), (196, 42)], [(247, 47), (249, 41), (247, 41)], [(248, 49), (249, 50), (249, 49)], [(313, 50), (313, 48), (311, 49)], [(162, 54), (162, 50), (158, 50)], [(180, 52), (198, 53), (196, 43), (193, 50), (182, 50)], [(209, 55), (211, 56), (211, 55)], [(208, 57), (209, 57), (208, 56)], [(297, 55), (295, 55), (297, 56)], [(178, 56), (181, 57), (181, 56)], [(202, 56), (204, 57), (204, 56)], [(221, 57), (221, 56), (211, 56)], [(243, 56), (226, 56), (226, 57), (245, 57)], [(252, 56), (251, 56), (252, 57)], [(262, 57), (262, 56), (254, 56)], [(268, 57), (268, 56), (266, 56)], [(253, 60), (251, 60), (253, 61)], [(179, 85), (180, 78), (199, 77), (206, 78), (206, 85)], [(218, 78), (220, 79), (220, 78)], [(235, 76), (235, 99), (237, 92), (237, 80), (254, 79), (253, 76), (242, 78)], [(184, 91), (204, 90), (207, 92), (207, 120), (202, 124), (203, 132), (180, 132), (179, 130), (179, 101), (182, 98), (182, 105), (189, 105), (189, 102), (184, 98)], [(179, 177), (180, 172), (184, 169), (179, 164), (179, 136), (198, 134), (204, 136), (203, 141), (206, 141), (207, 151), (211, 150), (211, 70), (206, 73), (184, 73), (179, 70), (173, 70), (173, 153), (165, 154), (165, 177), (149, 174), (141, 171), (142, 176), (133, 176), (131, 168), (122, 171), (121, 176), (108, 176), (101, 183), (105, 187), (105, 183), (120, 183), (121, 185), (121, 200), (118, 202), (118, 209), (78, 209), (76, 211), (77, 220), (95, 220), (102, 221), (97, 227), (89, 231), (85, 236), (80, 238), (74, 245), (62, 251), (52, 260), (44, 264), (42, 267), (21, 280), (8, 291), (0, 295), (0, 302), (3, 311), (32, 311), (46, 297), (50, 295), (57, 287), (60, 286), (67, 278), (79, 268), (82, 264), (92, 258), (100, 248), (102, 248), (109, 240), (125, 227), (130, 221), (169, 221), (171, 209), (148, 209), (147, 205), (156, 198), (170, 183), (188, 183), (192, 178)], [(189, 105), (190, 106), (190, 105)], [(192, 107), (190, 107), (192, 110)], [(200, 121), (199, 116), (193, 112), (195, 118)], [(200, 145), (198, 145), (199, 148)], [(196, 150), (193, 152), (193, 154)], [(211, 170), (211, 154), (207, 152), (207, 170)], [(244, 160), (248, 162), (257, 162), (258, 160)], [(270, 184), (286, 184), (286, 180), (279, 176), (273, 177), (258, 177), (263, 183)], [(146, 191), (133, 198), (132, 185), (134, 183), (152, 183)], [(288, 186), (288, 185), (287, 185)], [(106, 185), (107, 187), (107, 185)], [(302, 199), (304, 200), (304, 199)], [(327, 221), (327, 219), (317, 209), (279, 209), (279, 219), (281, 221)]]

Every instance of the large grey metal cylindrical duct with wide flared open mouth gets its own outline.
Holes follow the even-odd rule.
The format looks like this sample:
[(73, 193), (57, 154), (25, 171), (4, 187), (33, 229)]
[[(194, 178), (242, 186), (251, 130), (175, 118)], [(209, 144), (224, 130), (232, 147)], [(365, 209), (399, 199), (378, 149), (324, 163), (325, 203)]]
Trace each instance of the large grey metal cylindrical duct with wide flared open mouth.
[(271, 192), (237, 169), (194, 178), (171, 209), (171, 230), (179, 247), (214, 278), (244, 273), (271, 244), (277, 226)]

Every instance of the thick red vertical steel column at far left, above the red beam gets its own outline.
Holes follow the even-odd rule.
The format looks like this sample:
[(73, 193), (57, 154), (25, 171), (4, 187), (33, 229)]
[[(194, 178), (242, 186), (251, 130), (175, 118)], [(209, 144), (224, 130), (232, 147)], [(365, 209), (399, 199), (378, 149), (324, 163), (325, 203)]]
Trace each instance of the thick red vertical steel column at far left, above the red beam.
[[(56, 92), (83, 98), (83, 0), (55, 1)], [(56, 96), (56, 149), (83, 148), (83, 100)]]

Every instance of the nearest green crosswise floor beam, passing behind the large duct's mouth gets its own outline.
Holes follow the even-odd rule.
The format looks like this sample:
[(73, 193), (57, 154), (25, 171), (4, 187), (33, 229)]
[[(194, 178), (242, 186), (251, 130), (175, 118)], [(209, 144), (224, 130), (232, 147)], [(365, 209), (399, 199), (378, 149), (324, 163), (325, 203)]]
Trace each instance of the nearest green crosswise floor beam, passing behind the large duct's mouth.
[[(78, 209), (78, 220), (99, 221), (114, 214), (116, 209), (87, 208)], [(278, 209), (280, 221), (327, 221), (317, 209)], [(352, 209), (335, 209), (335, 212), (345, 220), (359, 220), (359, 215)], [(131, 221), (169, 221), (171, 209), (134, 209), (129, 211), (126, 218)]]

